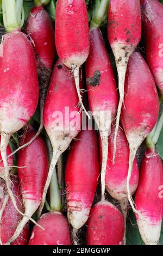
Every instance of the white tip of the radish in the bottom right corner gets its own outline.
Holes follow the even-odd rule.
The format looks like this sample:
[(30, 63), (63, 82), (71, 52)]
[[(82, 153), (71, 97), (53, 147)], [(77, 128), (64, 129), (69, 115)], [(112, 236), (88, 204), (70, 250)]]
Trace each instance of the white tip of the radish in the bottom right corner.
[(139, 218), (137, 220), (140, 235), (146, 245), (158, 245), (161, 233), (161, 221), (152, 223), (150, 218)]

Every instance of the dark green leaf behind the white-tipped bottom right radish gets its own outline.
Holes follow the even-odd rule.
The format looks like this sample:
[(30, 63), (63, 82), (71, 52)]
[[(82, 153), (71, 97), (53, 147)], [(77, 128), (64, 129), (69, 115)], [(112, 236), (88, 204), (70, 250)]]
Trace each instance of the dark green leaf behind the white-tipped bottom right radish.
[[(136, 223), (136, 218), (132, 211), (130, 211), (129, 217), (127, 219), (126, 245), (145, 245), (145, 243), (141, 239), (139, 229)], [(163, 222), (159, 245), (163, 245)]]

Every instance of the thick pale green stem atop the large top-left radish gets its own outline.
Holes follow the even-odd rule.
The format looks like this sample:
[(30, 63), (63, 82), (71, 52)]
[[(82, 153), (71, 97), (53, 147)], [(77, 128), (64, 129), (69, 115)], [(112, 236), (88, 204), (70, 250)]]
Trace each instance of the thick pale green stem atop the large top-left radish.
[(7, 32), (21, 29), (24, 23), (23, 0), (2, 0), (3, 23)]

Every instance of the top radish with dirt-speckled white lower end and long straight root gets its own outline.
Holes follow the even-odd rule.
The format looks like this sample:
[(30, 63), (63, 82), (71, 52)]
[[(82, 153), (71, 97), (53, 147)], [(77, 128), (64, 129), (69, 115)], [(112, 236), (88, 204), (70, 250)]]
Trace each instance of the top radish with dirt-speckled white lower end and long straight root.
[(110, 0), (108, 13), (108, 39), (116, 60), (119, 80), (118, 88), (120, 92), (120, 101), (116, 117), (113, 162), (115, 162), (116, 138), (124, 99), (124, 81), (128, 60), (139, 43), (140, 38), (140, 2), (137, 0)]

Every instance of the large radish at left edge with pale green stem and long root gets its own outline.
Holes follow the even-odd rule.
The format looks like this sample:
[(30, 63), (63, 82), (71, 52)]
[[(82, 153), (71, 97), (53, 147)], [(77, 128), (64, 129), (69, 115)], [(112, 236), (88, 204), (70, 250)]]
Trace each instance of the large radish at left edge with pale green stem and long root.
[(1, 155), (8, 193), (18, 212), (11, 191), (7, 145), (12, 133), (20, 130), (32, 117), (39, 98), (33, 48), (27, 36), (20, 32), (24, 18), (22, 4), (23, 1), (2, 1), (4, 26), (11, 33), (3, 36), (0, 56)]

